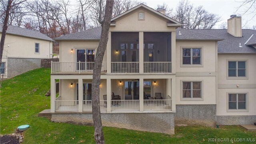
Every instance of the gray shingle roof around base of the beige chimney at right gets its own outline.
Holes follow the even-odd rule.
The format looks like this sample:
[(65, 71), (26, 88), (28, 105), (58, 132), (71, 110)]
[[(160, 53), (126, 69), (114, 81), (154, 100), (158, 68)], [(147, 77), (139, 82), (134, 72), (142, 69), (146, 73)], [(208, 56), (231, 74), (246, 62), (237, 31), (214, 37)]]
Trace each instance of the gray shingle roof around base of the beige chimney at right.
[[(242, 37), (234, 37), (224, 30), (190, 30), (193, 32), (199, 32), (202, 34), (210, 34), (212, 36), (218, 36), (224, 40), (218, 42), (218, 53), (256, 53), (256, 48), (245, 45), (245, 42), (252, 36), (256, 35), (256, 30), (242, 30)], [(256, 37), (251, 38), (249, 42), (256, 42)], [(242, 47), (240, 47), (240, 44)]]

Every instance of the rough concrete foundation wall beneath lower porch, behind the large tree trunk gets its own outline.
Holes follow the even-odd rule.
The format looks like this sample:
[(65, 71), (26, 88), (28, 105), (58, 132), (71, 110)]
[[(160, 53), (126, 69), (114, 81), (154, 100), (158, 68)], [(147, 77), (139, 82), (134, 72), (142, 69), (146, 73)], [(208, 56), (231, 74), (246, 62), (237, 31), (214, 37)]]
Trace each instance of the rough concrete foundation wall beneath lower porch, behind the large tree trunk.
[[(174, 113), (101, 114), (102, 125), (174, 134)], [(92, 125), (92, 114), (52, 114), (53, 122)]]

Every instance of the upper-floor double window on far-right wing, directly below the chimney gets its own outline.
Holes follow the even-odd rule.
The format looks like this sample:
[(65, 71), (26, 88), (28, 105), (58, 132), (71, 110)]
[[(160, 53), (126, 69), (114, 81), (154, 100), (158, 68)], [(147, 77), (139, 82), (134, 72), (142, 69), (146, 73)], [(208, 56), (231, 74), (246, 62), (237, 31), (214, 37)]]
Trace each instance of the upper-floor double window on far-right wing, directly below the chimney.
[(246, 77), (246, 61), (228, 61), (228, 77)]

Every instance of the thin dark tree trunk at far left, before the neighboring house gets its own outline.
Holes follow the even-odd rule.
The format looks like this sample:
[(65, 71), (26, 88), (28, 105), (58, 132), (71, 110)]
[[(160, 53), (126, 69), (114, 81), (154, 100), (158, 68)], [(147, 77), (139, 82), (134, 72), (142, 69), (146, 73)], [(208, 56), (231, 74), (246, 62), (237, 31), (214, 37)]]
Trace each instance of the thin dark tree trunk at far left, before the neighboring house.
[(5, 40), (5, 36), (6, 36), (6, 31), (8, 28), (8, 19), (9, 19), (11, 4), (12, 4), (12, 0), (8, 0), (5, 18), (4, 18), (2, 36), (1, 36), (1, 41), (0, 41), (0, 60), (1, 60), (0, 63), (2, 63), (2, 56), (3, 56), (3, 52), (4, 52), (4, 40)]

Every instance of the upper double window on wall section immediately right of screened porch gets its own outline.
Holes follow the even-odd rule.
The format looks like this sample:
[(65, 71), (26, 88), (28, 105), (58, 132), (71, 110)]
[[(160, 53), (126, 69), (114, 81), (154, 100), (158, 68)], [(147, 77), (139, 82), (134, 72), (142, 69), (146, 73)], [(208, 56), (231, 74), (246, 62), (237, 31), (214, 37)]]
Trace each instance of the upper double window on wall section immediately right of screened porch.
[(202, 48), (182, 48), (183, 65), (202, 65)]

